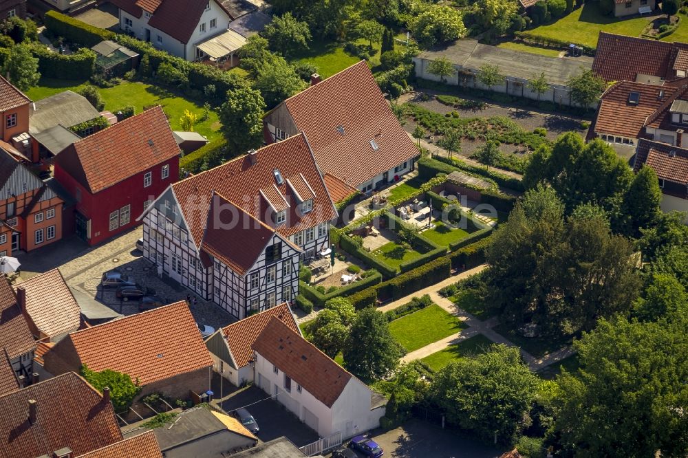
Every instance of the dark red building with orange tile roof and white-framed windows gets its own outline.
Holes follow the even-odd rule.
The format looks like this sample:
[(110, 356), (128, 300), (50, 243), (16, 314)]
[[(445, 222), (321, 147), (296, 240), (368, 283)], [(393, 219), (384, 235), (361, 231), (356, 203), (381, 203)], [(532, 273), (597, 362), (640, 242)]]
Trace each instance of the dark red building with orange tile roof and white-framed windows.
[(161, 107), (67, 146), (54, 175), (76, 199), (76, 234), (95, 245), (138, 225), (144, 208), (177, 181), (179, 152)]

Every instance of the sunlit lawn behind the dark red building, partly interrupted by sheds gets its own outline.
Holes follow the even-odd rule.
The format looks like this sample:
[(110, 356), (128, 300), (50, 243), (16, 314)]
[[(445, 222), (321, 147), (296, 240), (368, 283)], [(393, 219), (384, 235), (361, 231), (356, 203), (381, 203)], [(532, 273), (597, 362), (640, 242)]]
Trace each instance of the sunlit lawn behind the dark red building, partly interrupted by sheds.
[[(52, 78), (41, 78), (39, 86), (32, 87), (26, 91), (26, 95), (32, 100), (40, 100), (58, 92), (69, 90), (76, 90), (83, 87), (84, 81), (70, 81), (70, 80), (55, 80)], [(164, 112), (167, 114), (170, 122), (170, 127), (174, 131), (182, 130), (180, 118), (184, 114), (184, 110), (189, 110), (197, 114), (199, 117), (203, 113), (203, 105), (197, 102), (191, 102), (182, 98), (180, 94), (175, 94), (166, 89), (149, 85), (147, 83), (132, 83), (124, 81), (115, 87), (108, 87), (105, 89), (98, 88), (100, 96), (105, 102), (105, 109), (109, 111), (118, 110), (131, 105), (136, 109), (136, 114), (143, 111), (143, 107), (149, 105), (162, 105)], [(208, 119), (204, 122), (197, 122), (194, 130), (205, 135), (208, 140), (220, 135), (218, 129), (220, 127), (217, 113), (210, 111)]]

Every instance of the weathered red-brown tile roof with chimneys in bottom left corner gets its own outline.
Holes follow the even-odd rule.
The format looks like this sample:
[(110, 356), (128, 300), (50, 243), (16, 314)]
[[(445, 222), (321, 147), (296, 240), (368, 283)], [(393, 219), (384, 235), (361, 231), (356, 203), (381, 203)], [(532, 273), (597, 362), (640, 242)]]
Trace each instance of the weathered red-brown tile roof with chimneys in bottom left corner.
[[(29, 400), (36, 422), (29, 422)], [(82, 455), (122, 440), (110, 402), (69, 372), (0, 397), (0, 458), (52, 457), (69, 447)]]

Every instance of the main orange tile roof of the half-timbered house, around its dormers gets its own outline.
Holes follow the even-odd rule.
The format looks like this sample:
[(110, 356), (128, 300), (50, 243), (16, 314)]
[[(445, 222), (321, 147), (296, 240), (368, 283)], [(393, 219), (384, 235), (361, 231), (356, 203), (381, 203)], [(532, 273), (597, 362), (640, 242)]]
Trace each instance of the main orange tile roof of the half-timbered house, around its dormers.
[[(252, 163), (251, 157), (255, 164)], [(279, 170), (282, 177), (303, 174), (316, 195), (311, 212), (300, 214), (296, 197), (288, 188), (288, 184), (277, 184), (275, 169)], [(272, 225), (272, 221), (266, 221), (267, 204), (261, 204), (264, 200), (259, 196), (261, 190), (274, 188), (273, 185), (277, 186), (283, 199), (290, 203), (286, 223), (277, 228), (277, 232), (283, 237), (289, 237), (295, 232), (336, 218), (334, 204), (303, 135), (294, 135), (283, 142), (265, 146), (253, 156), (237, 157), (221, 166), (177, 182), (172, 185), (172, 189), (182, 208), (184, 221), (189, 224), (189, 233), (193, 241), (196, 246), (201, 246), (208, 221), (206, 209), (213, 191), (241, 206), (252, 217)], [(277, 204), (277, 197), (269, 198), (273, 204)]]

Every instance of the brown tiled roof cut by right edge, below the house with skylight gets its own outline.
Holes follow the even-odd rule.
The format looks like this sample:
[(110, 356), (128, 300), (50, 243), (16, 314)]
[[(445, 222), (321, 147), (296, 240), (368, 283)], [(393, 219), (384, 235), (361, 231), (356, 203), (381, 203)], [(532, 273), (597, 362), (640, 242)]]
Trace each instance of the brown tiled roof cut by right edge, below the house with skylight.
[(640, 170), (643, 164), (651, 167), (660, 179), (688, 185), (688, 149), (641, 139), (636, 149), (634, 171)]

